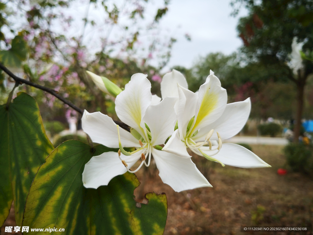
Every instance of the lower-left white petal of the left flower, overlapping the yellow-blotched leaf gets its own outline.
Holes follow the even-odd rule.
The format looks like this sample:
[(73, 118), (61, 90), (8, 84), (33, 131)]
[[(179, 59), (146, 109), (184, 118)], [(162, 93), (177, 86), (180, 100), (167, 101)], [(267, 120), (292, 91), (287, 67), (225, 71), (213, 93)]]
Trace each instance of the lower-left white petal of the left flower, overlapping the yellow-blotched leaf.
[[(141, 154), (141, 153), (140, 153)], [(123, 160), (130, 160), (129, 157), (121, 154)], [(136, 154), (136, 159), (131, 163), (127, 163), (130, 168), (140, 158), (139, 154)], [(89, 162), (86, 163), (83, 172), (83, 184), (85, 188), (97, 189), (101, 185), (108, 185), (110, 180), (116, 175), (122, 175), (126, 172), (126, 167), (123, 165), (116, 152), (106, 152), (99, 156), (92, 157)]]

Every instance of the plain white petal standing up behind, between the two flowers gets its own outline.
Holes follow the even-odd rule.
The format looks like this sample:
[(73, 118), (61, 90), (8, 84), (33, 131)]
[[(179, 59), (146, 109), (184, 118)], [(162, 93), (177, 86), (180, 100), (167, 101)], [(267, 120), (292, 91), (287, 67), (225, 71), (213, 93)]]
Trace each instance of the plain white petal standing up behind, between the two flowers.
[(186, 78), (181, 72), (173, 69), (172, 72), (166, 73), (161, 82), (161, 96), (165, 97), (178, 97), (177, 83), (188, 89)]

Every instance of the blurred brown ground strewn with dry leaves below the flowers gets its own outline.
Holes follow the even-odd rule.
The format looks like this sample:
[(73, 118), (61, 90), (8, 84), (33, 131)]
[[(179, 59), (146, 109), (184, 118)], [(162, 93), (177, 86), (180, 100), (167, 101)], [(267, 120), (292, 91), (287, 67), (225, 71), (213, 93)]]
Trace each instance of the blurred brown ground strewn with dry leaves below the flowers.
[[(136, 173), (141, 181), (135, 190), (136, 199), (140, 201), (146, 192), (166, 193), (168, 217), (165, 235), (254, 234), (240, 232), (241, 225), (312, 227), (313, 180), (298, 173), (277, 175), (277, 169), (285, 164), (282, 146), (252, 145), (252, 148), (272, 168), (222, 167), (203, 157), (193, 156), (192, 160), (213, 188), (177, 193), (163, 184), (155, 166), (142, 167)], [(4, 226), (16, 226), (12, 212), (1, 228), (1, 235), (8, 234), (4, 233)]]

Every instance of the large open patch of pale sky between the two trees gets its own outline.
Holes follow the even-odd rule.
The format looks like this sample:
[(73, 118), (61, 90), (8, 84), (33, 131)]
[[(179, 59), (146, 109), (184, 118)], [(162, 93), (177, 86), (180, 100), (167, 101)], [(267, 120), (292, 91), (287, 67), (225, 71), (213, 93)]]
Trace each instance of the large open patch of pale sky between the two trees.
[[(163, 27), (180, 26), (172, 58), (167, 67), (182, 65), (190, 68), (201, 56), (211, 52), (230, 54), (242, 45), (237, 36), (239, 17), (231, 17), (230, 0), (172, 0), (168, 13), (162, 18)], [(241, 9), (239, 16), (247, 14)], [(184, 33), (191, 36), (187, 41)]]

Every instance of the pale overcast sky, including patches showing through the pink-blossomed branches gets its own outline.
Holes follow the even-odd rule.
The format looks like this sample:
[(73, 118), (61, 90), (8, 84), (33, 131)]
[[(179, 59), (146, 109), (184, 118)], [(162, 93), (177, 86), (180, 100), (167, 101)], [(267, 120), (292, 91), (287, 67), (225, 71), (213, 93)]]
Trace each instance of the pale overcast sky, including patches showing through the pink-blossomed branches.
[[(177, 42), (172, 48), (172, 57), (169, 64), (162, 72), (167, 72), (172, 66), (180, 65), (190, 68), (199, 58), (211, 52), (223, 52), (230, 54), (242, 45), (241, 39), (237, 36), (236, 25), (240, 16), (247, 14), (245, 9), (241, 9), (239, 15), (234, 18), (230, 16), (232, 8), (229, 3), (231, 0), (171, 0), (168, 5), (168, 12), (160, 20), (162, 34), (174, 37)], [(111, 0), (116, 5), (121, 5), (121, 0)], [(101, 21), (102, 12), (100, 8), (88, 8), (89, 1), (78, 0), (69, 9), (69, 13), (77, 18), (67, 34), (78, 36), (83, 29), (81, 18), (86, 15), (89, 9), (88, 19), (94, 19), (98, 24), (105, 25)], [(149, 0), (145, 10), (145, 22), (153, 21), (156, 9), (164, 7), (164, 0)], [(125, 18), (124, 20), (129, 20)], [(123, 19), (122, 19), (123, 22)], [(84, 37), (84, 44), (87, 45), (91, 54), (99, 50), (99, 42), (96, 41), (100, 36), (105, 35), (105, 31), (110, 27), (99, 29), (98, 26), (88, 31)], [(119, 30), (110, 33), (111, 38), (118, 38)], [(191, 41), (185, 38), (185, 34), (191, 36)], [(150, 35), (151, 37), (151, 35)], [(153, 37), (153, 36), (152, 36)], [(145, 43), (145, 39), (141, 43)], [(156, 62), (156, 61), (155, 61)], [(151, 61), (152, 65), (157, 65)]]

